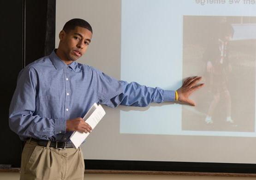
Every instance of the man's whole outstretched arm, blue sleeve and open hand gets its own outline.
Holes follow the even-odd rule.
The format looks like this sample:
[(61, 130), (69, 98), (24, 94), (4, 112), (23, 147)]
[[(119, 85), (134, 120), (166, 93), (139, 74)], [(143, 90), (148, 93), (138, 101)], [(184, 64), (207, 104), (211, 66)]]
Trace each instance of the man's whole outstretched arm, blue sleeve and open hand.
[[(97, 86), (97, 90), (99, 90), (98, 102), (108, 107), (117, 107), (119, 105), (146, 107), (151, 102), (161, 103), (176, 100), (174, 90), (147, 87), (136, 82), (118, 81), (98, 70), (96, 70), (96, 73), (98, 84), (100, 84)], [(177, 90), (179, 94), (178, 101), (195, 106), (189, 96), (193, 91), (203, 86), (203, 84), (197, 84), (201, 79), (202, 77), (198, 76), (186, 79), (182, 87)]]

